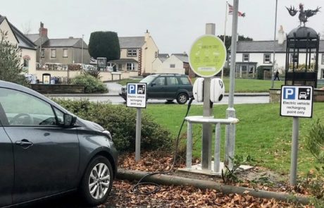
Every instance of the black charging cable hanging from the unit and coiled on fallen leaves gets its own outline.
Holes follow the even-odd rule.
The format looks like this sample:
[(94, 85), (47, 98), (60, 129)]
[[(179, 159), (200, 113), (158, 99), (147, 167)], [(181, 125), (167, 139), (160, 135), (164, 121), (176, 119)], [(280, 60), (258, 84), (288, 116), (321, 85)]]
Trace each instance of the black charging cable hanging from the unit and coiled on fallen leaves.
[[(194, 97), (192, 97), (190, 100), (189, 100), (189, 103), (188, 103), (188, 107), (187, 107), (187, 113), (185, 115), (185, 118), (187, 117), (187, 115), (189, 114), (189, 109), (192, 105), (192, 101), (194, 100)], [(157, 183), (151, 183), (151, 182), (142, 182), (144, 181), (145, 178), (149, 177), (149, 176), (153, 176), (153, 175), (156, 175), (156, 174), (168, 174), (170, 173), (171, 171), (173, 171), (174, 167), (175, 167), (175, 161), (177, 159), (177, 149), (179, 147), (179, 141), (180, 141), (180, 134), (181, 134), (181, 130), (182, 130), (182, 127), (183, 125), (185, 124), (185, 118), (183, 118), (183, 121), (182, 121), (182, 124), (180, 126), (180, 130), (179, 130), (179, 133), (177, 134), (177, 140), (175, 142), (175, 152), (173, 154), (173, 164), (170, 168), (170, 170), (168, 171), (165, 171), (165, 172), (154, 172), (154, 173), (148, 173), (147, 175), (143, 176), (141, 179), (139, 179), (139, 181), (137, 182), (137, 184), (135, 184), (133, 187), (132, 187), (132, 191), (135, 192), (136, 194), (142, 194), (142, 195), (150, 195), (150, 194), (153, 194), (155, 192), (158, 192), (159, 190), (161, 190), (161, 186), (158, 185)], [(151, 190), (151, 191), (147, 191), (147, 192), (141, 192), (139, 190), (139, 186), (142, 186), (142, 185), (154, 185), (156, 188), (154, 190)]]

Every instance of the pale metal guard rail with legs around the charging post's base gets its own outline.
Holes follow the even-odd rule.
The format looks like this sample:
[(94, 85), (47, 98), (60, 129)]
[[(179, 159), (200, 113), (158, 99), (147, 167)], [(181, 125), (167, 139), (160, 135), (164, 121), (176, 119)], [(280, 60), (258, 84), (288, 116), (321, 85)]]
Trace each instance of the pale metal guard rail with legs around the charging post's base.
[(211, 169), (212, 175), (220, 176), (220, 125), (232, 125), (239, 123), (237, 118), (206, 118), (203, 116), (187, 116), (187, 154), (186, 154), (186, 169), (192, 170), (192, 124), (193, 123), (210, 123), (215, 124), (215, 151), (214, 164)]

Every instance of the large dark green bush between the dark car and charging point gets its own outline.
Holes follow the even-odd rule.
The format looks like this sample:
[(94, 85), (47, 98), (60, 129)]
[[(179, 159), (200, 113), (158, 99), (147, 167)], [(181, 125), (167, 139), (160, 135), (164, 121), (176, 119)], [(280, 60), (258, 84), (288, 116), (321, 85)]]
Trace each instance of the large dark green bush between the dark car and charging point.
[[(89, 121), (99, 123), (111, 131), (118, 151), (133, 152), (136, 137), (136, 111), (125, 106), (92, 103), (88, 100), (56, 100), (58, 104)], [(156, 123), (151, 116), (142, 114), (141, 149), (170, 149), (170, 132)]]

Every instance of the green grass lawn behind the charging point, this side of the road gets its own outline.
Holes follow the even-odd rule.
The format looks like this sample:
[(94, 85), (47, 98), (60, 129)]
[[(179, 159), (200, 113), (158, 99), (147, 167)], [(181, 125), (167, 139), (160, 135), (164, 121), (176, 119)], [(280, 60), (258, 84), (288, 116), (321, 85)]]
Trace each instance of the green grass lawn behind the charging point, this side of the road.
[[(215, 118), (225, 118), (227, 105), (214, 106)], [(192, 106), (189, 116), (202, 115), (202, 106)], [(298, 172), (305, 174), (317, 164), (313, 156), (304, 148), (305, 135), (316, 120), (324, 117), (324, 103), (314, 103), (313, 118), (299, 118)], [(168, 128), (176, 137), (187, 105), (148, 105), (148, 114)], [(250, 155), (251, 165), (264, 166), (278, 173), (289, 173), (292, 140), (292, 118), (280, 116), (279, 104), (237, 104), (235, 105), (239, 123), (236, 126), (235, 154)], [(323, 122), (324, 120), (322, 120)], [(186, 137), (187, 126), (182, 129)], [(221, 159), (224, 155), (224, 133), (221, 136)], [(214, 135), (214, 133), (213, 133)], [(194, 157), (201, 157), (201, 126), (194, 124)], [(185, 142), (183, 140), (182, 142)]]

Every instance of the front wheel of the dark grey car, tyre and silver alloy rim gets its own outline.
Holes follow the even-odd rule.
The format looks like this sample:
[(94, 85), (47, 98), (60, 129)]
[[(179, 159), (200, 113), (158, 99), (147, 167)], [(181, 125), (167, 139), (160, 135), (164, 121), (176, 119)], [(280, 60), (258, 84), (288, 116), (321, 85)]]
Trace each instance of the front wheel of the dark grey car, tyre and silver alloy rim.
[(87, 204), (95, 206), (106, 202), (113, 186), (113, 169), (106, 157), (94, 157), (82, 178), (80, 190)]

